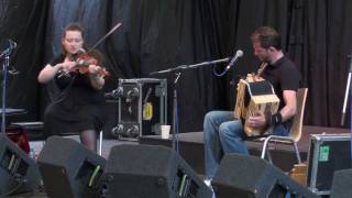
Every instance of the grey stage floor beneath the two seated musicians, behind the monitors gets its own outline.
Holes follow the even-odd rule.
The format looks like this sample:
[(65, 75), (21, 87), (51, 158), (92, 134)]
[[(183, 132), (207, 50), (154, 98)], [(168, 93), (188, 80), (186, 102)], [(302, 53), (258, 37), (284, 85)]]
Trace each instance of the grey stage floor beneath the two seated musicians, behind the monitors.
[[(300, 141), (298, 142), (299, 153), (302, 161), (306, 161), (308, 148), (309, 148), (309, 136), (311, 134), (338, 134), (338, 133), (349, 133), (346, 129), (337, 128), (321, 128), (321, 127), (304, 127), (304, 132)], [(182, 157), (194, 168), (194, 170), (200, 176), (204, 176), (204, 134), (202, 132), (189, 132), (180, 133), (178, 135), (179, 142), (179, 154)], [(172, 147), (172, 138), (169, 140), (163, 140), (160, 135), (142, 136), (139, 141), (119, 141), (119, 140), (103, 140), (102, 144), (102, 156), (105, 158), (109, 157), (110, 150), (114, 145), (121, 144), (150, 144), (150, 145), (165, 145)], [(31, 142), (31, 147), (35, 150), (38, 154), (43, 147), (43, 141)], [(252, 155), (258, 155), (261, 151), (261, 142), (246, 142), (246, 145)], [(274, 164), (288, 172), (292, 169), (293, 165), (296, 164), (295, 153), (290, 146), (284, 145), (282, 143), (276, 143), (272, 147), (272, 157)], [(44, 198), (47, 197), (45, 191), (36, 189), (34, 193), (21, 194), (11, 197), (16, 198)]]

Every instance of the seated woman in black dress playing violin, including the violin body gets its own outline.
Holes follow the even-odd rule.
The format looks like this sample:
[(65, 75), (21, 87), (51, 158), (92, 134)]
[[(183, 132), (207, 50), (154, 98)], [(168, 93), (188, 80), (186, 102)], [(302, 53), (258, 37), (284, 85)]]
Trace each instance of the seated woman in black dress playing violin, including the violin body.
[(97, 132), (105, 120), (101, 56), (97, 51), (79, 54), (84, 51), (84, 30), (78, 23), (65, 28), (62, 46), (63, 53), (37, 77), (42, 84), (54, 81), (59, 89), (59, 96), (45, 110), (44, 130), (47, 135), (78, 133), (81, 143), (96, 151)]

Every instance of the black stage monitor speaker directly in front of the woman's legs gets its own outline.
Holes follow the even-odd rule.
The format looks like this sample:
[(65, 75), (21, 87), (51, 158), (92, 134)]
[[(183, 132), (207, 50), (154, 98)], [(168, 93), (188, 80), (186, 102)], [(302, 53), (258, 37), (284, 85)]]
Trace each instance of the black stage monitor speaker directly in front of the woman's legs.
[(37, 164), (48, 197), (99, 197), (106, 160), (75, 140), (48, 138)]

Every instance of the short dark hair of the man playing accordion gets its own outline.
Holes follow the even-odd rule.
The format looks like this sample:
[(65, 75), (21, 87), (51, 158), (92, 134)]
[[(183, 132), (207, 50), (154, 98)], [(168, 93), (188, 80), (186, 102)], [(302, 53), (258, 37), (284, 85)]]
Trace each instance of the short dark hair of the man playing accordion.
[(270, 26), (256, 29), (251, 35), (251, 40), (252, 42), (260, 42), (263, 48), (273, 46), (278, 51), (282, 50), (282, 36)]

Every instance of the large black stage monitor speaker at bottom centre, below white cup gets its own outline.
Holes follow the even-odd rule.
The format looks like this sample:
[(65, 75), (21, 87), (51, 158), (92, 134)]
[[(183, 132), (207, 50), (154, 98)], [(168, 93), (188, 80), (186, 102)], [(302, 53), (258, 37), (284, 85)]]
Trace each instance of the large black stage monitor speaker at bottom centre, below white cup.
[(117, 145), (105, 169), (106, 197), (211, 198), (212, 193), (175, 151)]

